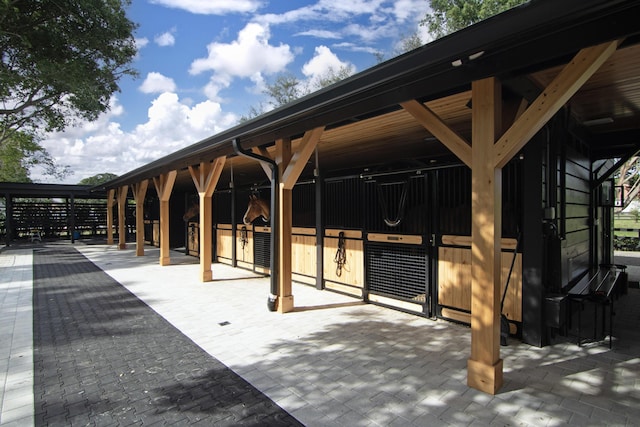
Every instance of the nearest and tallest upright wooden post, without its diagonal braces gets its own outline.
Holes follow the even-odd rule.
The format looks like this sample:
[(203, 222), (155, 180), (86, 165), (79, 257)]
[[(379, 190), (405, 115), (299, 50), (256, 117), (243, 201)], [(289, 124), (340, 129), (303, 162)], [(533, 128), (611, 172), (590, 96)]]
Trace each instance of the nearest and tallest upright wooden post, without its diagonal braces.
[(493, 163), (501, 128), (501, 91), (495, 78), (472, 82), (471, 356), (467, 384), (495, 394), (502, 386), (500, 281), (502, 170)]

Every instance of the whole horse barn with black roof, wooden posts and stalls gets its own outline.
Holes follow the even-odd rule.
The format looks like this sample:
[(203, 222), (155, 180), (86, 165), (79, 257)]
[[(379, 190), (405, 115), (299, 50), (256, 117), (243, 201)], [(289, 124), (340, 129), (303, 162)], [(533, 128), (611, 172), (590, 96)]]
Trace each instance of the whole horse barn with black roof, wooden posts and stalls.
[(544, 346), (572, 290), (625, 287), (613, 176), (640, 149), (639, 16), (531, 1), (243, 122), (108, 182), (110, 243), (132, 194), (137, 255), (270, 274), (271, 310), (297, 281), (470, 324), (467, 383), (496, 393), (502, 313)]

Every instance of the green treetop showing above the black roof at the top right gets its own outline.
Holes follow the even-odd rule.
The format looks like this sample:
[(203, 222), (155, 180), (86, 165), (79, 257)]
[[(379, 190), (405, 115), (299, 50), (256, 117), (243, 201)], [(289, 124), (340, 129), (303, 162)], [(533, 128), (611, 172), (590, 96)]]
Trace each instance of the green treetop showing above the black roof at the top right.
[(431, 13), (422, 20), (434, 38), (461, 30), (528, 0), (429, 0)]

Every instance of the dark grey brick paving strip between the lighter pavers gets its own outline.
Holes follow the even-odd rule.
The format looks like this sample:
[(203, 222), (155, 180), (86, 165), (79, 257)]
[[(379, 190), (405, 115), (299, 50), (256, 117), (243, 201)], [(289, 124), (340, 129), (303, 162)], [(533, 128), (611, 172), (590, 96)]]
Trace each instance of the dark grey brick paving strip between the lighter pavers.
[(35, 425), (301, 425), (70, 247), (34, 251)]

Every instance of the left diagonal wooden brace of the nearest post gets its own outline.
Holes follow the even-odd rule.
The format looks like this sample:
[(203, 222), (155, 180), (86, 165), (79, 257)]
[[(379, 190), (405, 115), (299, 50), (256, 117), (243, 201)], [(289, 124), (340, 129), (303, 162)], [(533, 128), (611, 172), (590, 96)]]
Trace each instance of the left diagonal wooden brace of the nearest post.
[(471, 167), (471, 147), (456, 131), (431, 111), (426, 105), (416, 101), (401, 102), (400, 105), (411, 114), (433, 136), (438, 138), (465, 165)]

